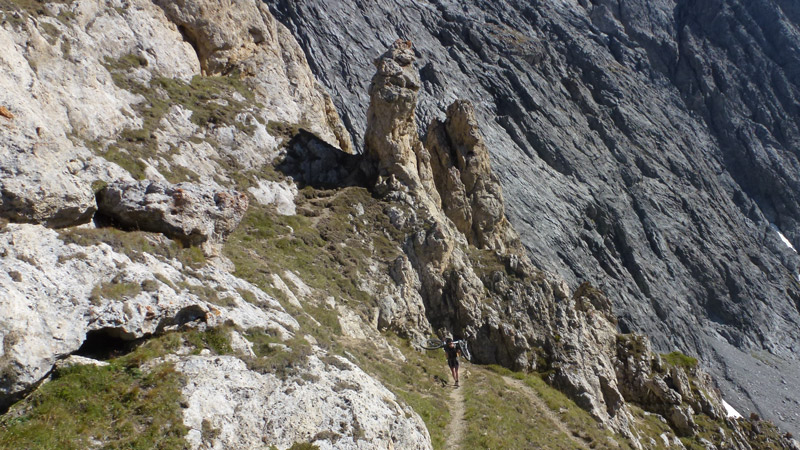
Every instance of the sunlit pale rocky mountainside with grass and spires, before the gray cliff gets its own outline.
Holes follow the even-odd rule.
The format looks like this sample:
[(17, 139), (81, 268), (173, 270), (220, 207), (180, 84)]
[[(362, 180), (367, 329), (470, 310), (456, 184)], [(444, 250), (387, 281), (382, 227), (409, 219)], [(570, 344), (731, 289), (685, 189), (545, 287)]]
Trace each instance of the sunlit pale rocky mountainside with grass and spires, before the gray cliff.
[(531, 261), (412, 42), (355, 140), (258, 0), (0, 0), (0, 44), (0, 448), (800, 448)]

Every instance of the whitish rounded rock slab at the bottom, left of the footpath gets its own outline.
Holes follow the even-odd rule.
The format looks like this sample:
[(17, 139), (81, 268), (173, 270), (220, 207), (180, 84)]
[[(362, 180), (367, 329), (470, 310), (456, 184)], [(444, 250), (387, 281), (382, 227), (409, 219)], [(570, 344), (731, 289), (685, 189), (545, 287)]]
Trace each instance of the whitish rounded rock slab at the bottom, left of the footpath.
[[(432, 448), (425, 424), (408, 406), (346, 359), (321, 350), (283, 379), (248, 370), (233, 356), (188, 357), (176, 369), (188, 379), (184, 423), (195, 448), (297, 442), (331, 450)], [(204, 440), (204, 427), (219, 432)]]

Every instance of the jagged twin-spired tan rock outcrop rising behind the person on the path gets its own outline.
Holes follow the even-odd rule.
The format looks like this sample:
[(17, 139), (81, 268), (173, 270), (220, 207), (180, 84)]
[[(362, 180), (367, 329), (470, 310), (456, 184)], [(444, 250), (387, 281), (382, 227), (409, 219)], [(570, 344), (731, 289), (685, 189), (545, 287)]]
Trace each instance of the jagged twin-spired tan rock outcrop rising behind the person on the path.
[[(368, 123), (367, 156), (395, 177), (387, 198), (417, 212), (396, 221), (406, 233), (413, 231), (392, 277), (402, 291), (418, 295), (379, 301), (379, 325), (424, 334), (427, 326), (409, 331), (421, 307), (440, 335), (467, 337), (476, 362), (545, 370), (544, 358), (555, 368), (556, 385), (606, 426), (630, 433), (631, 416), (614, 373), (610, 302), (589, 289), (569, 298), (562, 280), (533, 269), (505, 218), (502, 191), (469, 102), (451, 105), (447, 121), (428, 128), (427, 149), (419, 144), (409, 122), (416, 106), (416, 85), (407, 82), (415, 77), (413, 63), (409, 44), (395, 42), (378, 60), (370, 86), (370, 114), (396, 120), (391, 126)], [(392, 115), (396, 111), (401, 113)], [(380, 180), (375, 189), (383, 192)], [(413, 201), (392, 195), (403, 189)]]

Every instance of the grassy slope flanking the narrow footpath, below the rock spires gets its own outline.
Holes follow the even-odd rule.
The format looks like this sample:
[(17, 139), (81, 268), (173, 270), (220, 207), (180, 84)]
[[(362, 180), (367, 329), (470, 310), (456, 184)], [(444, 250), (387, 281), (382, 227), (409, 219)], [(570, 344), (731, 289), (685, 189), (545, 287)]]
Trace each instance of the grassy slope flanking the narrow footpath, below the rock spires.
[[(365, 210), (363, 221), (354, 219), (358, 203)], [(288, 269), (312, 288), (341, 299), (356, 311), (374, 306), (369, 295), (353, 281), (363, 276), (367, 258), (385, 264), (399, 255), (402, 236), (385, 222), (383, 210), (387, 205), (372, 198), (366, 190), (351, 187), (337, 191), (306, 188), (299, 206), (306, 216), (278, 216), (259, 207), (247, 213), (226, 244), (226, 255), (236, 264), (236, 274), (276, 293), (272, 274), (281, 275)], [(339, 242), (347, 246), (336, 245)], [(276, 294), (279, 299), (282, 297)], [(439, 382), (449, 380), (442, 355), (419, 353), (407, 341), (384, 334), (402, 353), (405, 359), (402, 361), (373, 343), (340, 336), (337, 315), (331, 309), (306, 304), (303, 311), (298, 311), (285, 298), (283, 303), (307, 325), (306, 332), (325, 343), (329, 350), (355, 360), (408, 403), (425, 421), (434, 448), (443, 448), (450, 411), (449, 391)], [(600, 428), (585, 411), (538, 376), (515, 374), (502, 368), (471, 367), (473, 376), (464, 383), (468, 432), (463, 448), (574, 447), (574, 442), (543, 419), (544, 415), (535, 406), (521, 400), (524, 396), (510, 388), (503, 376), (523, 380), (558, 414), (564, 427), (588, 446), (604, 448), (611, 438), (619, 442), (620, 448), (627, 448), (623, 438)]]

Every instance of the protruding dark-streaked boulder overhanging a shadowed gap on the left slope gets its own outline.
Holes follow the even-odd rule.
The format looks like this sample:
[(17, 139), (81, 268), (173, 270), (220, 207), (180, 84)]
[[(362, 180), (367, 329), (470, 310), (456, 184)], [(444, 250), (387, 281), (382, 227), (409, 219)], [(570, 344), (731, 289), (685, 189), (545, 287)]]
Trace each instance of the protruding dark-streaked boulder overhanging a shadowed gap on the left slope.
[(242, 220), (247, 196), (191, 183), (116, 182), (97, 194), (98, 211), (123, 228), (164, 233), (188, 245), (221, 242)]

